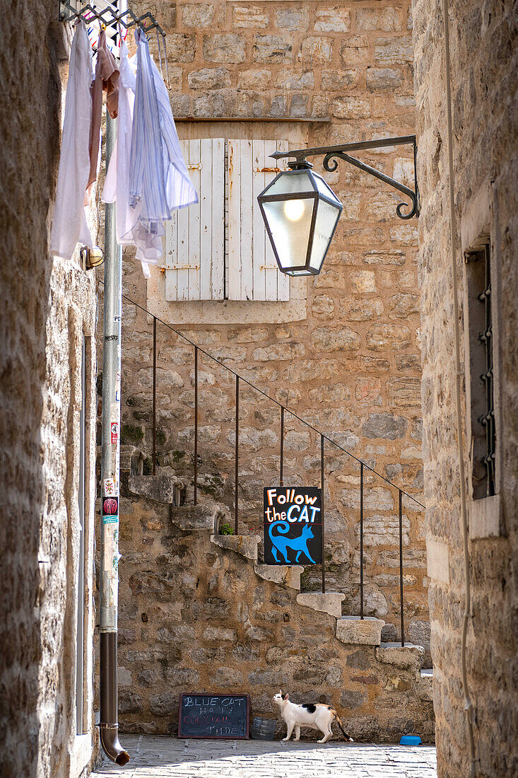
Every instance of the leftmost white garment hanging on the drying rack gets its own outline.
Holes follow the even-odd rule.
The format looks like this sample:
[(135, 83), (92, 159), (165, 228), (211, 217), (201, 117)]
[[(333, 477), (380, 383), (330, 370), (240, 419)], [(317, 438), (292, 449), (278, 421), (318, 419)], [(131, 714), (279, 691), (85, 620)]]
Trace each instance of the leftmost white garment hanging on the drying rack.
[(72, 257), (78, 243), (93, 247), (84, 208), (90, 168), (91, 84), (92, 49), (85, 23), (81, 21), (75, 28), (70, 52), (58, 189), (51, 232), (51, 254), (64, 259)]

